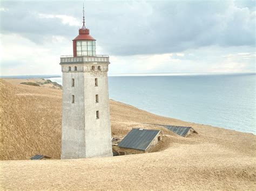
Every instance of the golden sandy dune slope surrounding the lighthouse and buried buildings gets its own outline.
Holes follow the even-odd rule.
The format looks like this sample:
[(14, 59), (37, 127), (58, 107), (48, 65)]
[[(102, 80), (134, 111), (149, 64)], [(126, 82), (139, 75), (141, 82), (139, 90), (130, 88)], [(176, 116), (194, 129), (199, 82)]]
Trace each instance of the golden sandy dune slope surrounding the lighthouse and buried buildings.
[(190, 125), (182, 138), (164, 130), (160, 152), (76, 160), (60, 156), (62, 91), (0, 80), (1, 161), (4, 189), (256, 189), (256, 136), (160, 117), (111, 101), (113, 136), (153, 124)]

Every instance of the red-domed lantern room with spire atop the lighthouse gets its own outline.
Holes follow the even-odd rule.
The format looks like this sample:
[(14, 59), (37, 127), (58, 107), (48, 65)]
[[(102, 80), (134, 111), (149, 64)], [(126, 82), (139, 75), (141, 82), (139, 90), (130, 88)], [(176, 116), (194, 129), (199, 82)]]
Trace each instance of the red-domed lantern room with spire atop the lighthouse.
[(95, 56), (96, 40), (90, 36), (90, 30), (85, 27), (84, 10), (83, 26), (79, 29), (78, 36), (73, 39), (73, 56)]

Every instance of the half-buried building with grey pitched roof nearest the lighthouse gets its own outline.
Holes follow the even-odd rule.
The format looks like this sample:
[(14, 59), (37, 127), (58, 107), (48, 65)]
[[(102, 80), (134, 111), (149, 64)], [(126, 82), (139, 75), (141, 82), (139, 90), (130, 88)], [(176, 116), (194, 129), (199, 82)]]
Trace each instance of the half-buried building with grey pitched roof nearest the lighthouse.
[(132, 129), (113, 150), (119, 155), (150, 152), (161, 140), (160, 130)]

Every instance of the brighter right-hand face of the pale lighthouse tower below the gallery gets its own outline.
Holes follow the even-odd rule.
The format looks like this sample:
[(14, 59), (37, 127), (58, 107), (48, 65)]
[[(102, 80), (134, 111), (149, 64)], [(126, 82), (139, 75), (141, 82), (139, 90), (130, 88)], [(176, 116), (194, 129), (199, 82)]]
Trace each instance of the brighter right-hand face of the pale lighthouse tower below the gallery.
[[(98, 86), (95, 86), (96, 78)], [(88, 90), (85, 93), (86, 156), (112, 155), (107, 72), (86, 73), (84, 87), (85, 91)], [(98, 95), (98, 103), (96, 103), (96, 95)], [(96, 118), (97, 111), (99, 112), (98, 119)]]

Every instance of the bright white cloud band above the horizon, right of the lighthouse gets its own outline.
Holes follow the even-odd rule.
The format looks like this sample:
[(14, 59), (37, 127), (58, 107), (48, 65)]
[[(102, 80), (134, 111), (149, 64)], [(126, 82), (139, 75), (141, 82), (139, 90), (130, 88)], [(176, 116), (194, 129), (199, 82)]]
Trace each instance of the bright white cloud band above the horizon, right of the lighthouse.
[[(242, 47), (242, 49), (248, 51), (251, 48)], [(178, 56), (176, 53), (111, 56), (110, 72), (111, 74), (254, 72), (256, 54), (247, 53), (241, 54), (234, 47), (209, 46), (184, 51), (183, 56)]]

